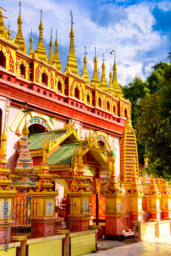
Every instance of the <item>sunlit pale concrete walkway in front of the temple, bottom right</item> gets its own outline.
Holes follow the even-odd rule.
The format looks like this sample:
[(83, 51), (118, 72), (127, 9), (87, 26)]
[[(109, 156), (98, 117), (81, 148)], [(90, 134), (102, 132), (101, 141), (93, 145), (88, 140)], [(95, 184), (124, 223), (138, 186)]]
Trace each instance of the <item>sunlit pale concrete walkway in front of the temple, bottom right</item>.
[[(97, 252), (85, 254), (83, 256), (170, 256), (171, 255), (171, 236), (156, 238), (155, 240), (148, 240), (144, 242), (133, 242), (134, 239), (127, 239), (129, 241), (108, 241), (98, 240)], [(107, 242), (106, 242), (107, 241)], [(103, 243), (102, 243), (103, 242)], [(127, 243), (127, 244), (126, 244)], [(108, 249), (111, 247), (112, 249)], [(101, 247), (101, 248), (100, 248)]]

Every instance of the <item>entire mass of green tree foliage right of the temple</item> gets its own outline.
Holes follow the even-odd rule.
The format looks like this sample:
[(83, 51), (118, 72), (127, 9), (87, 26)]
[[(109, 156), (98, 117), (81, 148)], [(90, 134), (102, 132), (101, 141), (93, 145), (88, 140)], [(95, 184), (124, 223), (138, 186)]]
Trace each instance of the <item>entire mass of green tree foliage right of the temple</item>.
[[(171, 53), (168, 58), (171, 61)], [(144, 165), (145, 148), (149, 158), (149, 172), (168, 179), (169, 167), (165, 165), (164, 173), (161, 164), (165, 164), (163, 152), (166, 150), (171, 138), (169, 135), (170, 106), (170, 65), (159, 62), (152, 67), (153, 71), (143, 82), (141, 78), (135, 79), (121, 87), (124, 98), (132, 103), (132, 125), (138, 131), (137, 147), (139, 163)], [(165, 120), (165, 121), (164, 121)], [(164, 121), (164, 122), (163, 122)], [(171, 154), (170, 154), (171, 156)], [(161, 159), (162, 162), (161, 162)], [(170, 165), (171, 166), (171, 165)], [(167, 169), (167, 171), (166, 171)], [(170, 174), (171, 177), (171, 174)]]

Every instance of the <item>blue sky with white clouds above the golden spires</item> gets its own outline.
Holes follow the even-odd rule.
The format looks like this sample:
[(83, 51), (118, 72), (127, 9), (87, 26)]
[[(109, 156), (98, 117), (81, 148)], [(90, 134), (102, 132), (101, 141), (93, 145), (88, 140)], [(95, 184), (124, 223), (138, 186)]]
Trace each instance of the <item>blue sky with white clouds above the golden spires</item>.
[[(16, 36), (19, 1), (2, 0), (3, 15), (10, 20), (12, 35)], [(87, 47), (88, 72), (92, 79), (94, 56), (98, 60), (101, 79), (102, 54), (104, 53), (106, 78), (109, 80), (111, 62), (116, 51), (118, 82), (125, 85), (135, 76), (145, 80), (157, 62), (168, 61), (171, 51), (171, 1), (134, 0), (23, 0), (21, 16), (22, 31), (29, 51), (29, 38), (32, 29), (33, 50), (38, 44), (40, 10), (44, 26), (44, 45), (49, 54), (50, 30), (53, 29), (53, 44), (59, 42), (59, 57), (62, 71), (67, 64), (71, 16), (73, 12), (74, 44), (78, 71), (83, 67), (84, 46)], [(8, 26), (8, 20), (4, 20)], [(54, 45), (55, 49), (55, 45)], [(79, 72), (80, 75), (80, 72)]]

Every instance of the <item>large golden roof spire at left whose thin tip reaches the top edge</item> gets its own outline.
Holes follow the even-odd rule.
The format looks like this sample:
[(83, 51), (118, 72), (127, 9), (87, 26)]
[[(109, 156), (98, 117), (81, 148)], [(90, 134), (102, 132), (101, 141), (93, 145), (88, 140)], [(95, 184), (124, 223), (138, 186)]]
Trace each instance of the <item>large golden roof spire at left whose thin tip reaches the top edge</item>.
[(19, 16), (17, 19), (18, 31), (14, 40), (15, 44), (19, 47), (19, 51), (27, 53), (26, 44), (22, 34), (22, 18), (21, 18), (21, 1), (19, 2)]

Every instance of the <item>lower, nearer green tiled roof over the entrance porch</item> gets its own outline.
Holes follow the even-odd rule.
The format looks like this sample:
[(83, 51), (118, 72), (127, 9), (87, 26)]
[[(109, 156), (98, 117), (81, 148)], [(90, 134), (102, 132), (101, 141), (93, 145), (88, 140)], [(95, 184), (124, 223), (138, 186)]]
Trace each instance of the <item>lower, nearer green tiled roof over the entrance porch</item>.
[[(74, 150), (79, 148), (80, 142), (66, 143), (59, 147), (50, 157), (48, 157), (48, 164), (70, 164)], [(84, 144), (87, 142), (81, 143), (82, 151), (86, 149)]]

